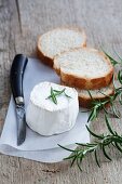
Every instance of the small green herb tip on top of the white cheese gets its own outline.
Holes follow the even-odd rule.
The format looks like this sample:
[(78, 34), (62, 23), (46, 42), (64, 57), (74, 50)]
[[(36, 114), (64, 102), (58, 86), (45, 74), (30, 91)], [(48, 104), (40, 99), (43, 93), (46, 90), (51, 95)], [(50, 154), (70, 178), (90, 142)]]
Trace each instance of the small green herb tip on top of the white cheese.
[(70, 98), (71, 98), (71, 96), (69, 96), (68, 94), (66, 94), (65, 90), (66, 90), (66, 88), (64, 88), (64, 89), (60, 90), (60, 91), (59, 91), (59, 90), (54, 90), (54, 89), (51, 87), (51, 94), (50, 94), (45, 100), (51, 98), (54, 104), (57, 104), (57, 98), (56, 98), (56, 97), (59, 96), (59, 95), (62, 95), (62, 94), (64, 94), (66, 97), (70, 97)]

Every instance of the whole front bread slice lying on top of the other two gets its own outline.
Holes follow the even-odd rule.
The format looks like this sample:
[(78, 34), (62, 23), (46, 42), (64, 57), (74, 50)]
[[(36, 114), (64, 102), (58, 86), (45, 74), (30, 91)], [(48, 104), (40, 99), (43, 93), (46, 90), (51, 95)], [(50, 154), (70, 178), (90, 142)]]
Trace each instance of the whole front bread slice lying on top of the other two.
[(113, 75), (110, 60), (95, 49), (79, 48), (54, 58), (54, 69), (69, 87), (85, 90), (108, 86)]

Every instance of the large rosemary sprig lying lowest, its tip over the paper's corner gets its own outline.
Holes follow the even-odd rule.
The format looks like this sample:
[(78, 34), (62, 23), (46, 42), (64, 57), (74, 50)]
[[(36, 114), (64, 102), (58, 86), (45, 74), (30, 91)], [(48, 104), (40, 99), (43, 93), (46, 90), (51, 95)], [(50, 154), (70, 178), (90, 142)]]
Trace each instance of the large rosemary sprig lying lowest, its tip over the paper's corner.
[(119, 135), (110, 126), (110, 122), (108, 120), (108, 117), (105, 115), (105, 120), (106, 120), (106, 126), (109, 131), (108, 134), (97, 134), (94, 133), (87, 126), (86, 129), (90, 132), (91, 135), (95, 137), (94, 143), (86, 143), (86, 144), (81, 144), (81, 143), (76, 143), (79, 148), (77, 149), (69, 149), (67, 147), (64, 147), (62, 145), (58, 145), (59, 147), (69, 150), (71, 155), (65, 160), (71, 160), (71, 166), (77, 162), (79, 169), (81, 169), (81, 163), (83, 159), (89, 155), (89, 154), (94, 154), (95, 160), (98, 167), (99, 165), (99, 159), (97, 157), (97, 152), (100, 149), (104, 154), (104, 156), (111, 161), (110, 156), (107, 154), (107, 148), (109, 148), (110, 145), (113, 145), (119, 152), (122, 153), (122, 135)]

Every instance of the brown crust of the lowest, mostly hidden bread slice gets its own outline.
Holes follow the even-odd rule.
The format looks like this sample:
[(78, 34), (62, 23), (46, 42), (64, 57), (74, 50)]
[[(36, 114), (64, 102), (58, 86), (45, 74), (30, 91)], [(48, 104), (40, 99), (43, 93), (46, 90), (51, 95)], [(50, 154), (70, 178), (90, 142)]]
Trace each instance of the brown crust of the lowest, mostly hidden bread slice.
[[(68, 86), (65, 82), (60, 81), (60, 84), (63, 86)], [(107, 94), (106, 96), (101, 95), (101, 96), (94, 96), (94, 100), (99, 100), (99, 101), (104, 101), (104, 100), (108, 100), (108, 96), (113, 95), (114, 94), (114, 88), (112, 82), (109, 84), (111, 88), (111, 91), (109, 94)], [(93, 100), (91, 98), (91, 96), (86, 96), (86, 95), (78, 95), (79, 96), (79, 105), (81, 107), (84, 108), (91, 108), (93, 106), (92, 102)], [(108, 104), (106, 104), (108, 106)]]

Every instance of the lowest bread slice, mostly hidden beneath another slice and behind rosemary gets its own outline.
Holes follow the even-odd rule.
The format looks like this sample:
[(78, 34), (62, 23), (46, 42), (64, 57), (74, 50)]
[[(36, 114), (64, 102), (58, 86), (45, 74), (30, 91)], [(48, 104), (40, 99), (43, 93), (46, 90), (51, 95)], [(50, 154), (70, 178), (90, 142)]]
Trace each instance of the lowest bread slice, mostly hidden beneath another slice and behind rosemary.
[[(67, 86), (63, 81), (60, 83)], [(114, 93), (114, 87), (112, 82), (110, 82), (110, 84), (106, 88), (101, 88), (99, 90), (90, 90), (92, 97), (87, 90), (80, 90), (78, 88), (76, 90), (78, 91), (78, 95), (79, 95), (79, 105), (84, 108), (92, 107), (93, 105), (92, 102), (94, 100), (100, 100), (100, 101), (107, 100), (110, 95)]]

